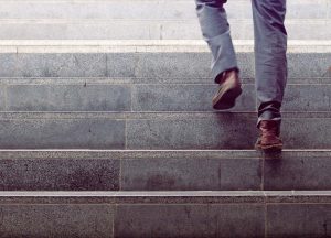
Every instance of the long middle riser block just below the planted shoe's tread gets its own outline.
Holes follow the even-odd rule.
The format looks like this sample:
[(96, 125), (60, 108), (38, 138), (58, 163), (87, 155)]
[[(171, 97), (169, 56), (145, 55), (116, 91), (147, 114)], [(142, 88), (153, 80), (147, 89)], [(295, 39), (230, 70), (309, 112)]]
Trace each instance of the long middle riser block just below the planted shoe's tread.
[(258, 159), (140, 159), (121, 161), (121, 190), (260, 190)]

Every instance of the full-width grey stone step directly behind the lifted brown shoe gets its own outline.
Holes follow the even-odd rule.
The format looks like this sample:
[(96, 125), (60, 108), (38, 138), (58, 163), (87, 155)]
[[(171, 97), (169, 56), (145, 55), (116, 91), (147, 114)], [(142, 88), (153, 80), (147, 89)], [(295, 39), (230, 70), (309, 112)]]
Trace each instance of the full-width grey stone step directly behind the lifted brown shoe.
[[(192, 79), (192, 78), (191, 78)], [(0, 111), (213, 111), (212, 79), (0, 78)], [(253, 78), (232, 111), (255, 111)], [(330, 78), (289, 78), (284, 111), (330, 111)]]

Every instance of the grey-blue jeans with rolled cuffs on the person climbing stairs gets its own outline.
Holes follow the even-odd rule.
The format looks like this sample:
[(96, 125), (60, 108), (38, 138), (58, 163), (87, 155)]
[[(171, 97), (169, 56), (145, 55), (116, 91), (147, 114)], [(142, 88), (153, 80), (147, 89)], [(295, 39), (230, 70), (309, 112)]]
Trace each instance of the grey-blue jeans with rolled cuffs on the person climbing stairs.
[[(231, 1), (231, 0), (229, 0)], [(204, 40), (213, 54), (212, 75), (239, 71), (229, 33), (226, 0), (195, 0)], [(286, 0), (252, 0), (255, 37), (255, 85), (259, 102), (258, 122), (278, 120), (287, 82)], [(216, 82), (217, 83), (217, 82)]]

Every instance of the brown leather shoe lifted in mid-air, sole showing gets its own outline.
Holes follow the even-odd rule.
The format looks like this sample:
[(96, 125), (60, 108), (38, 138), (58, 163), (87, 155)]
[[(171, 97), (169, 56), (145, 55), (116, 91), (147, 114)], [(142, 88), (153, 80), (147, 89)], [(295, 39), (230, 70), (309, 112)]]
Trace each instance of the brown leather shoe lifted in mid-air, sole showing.
[(237, 71), (231, 69), (222, 73), (218, 91), (213, 98), (213, 108), (224, 110), (234, 107), (241, 94), (242, 84)]

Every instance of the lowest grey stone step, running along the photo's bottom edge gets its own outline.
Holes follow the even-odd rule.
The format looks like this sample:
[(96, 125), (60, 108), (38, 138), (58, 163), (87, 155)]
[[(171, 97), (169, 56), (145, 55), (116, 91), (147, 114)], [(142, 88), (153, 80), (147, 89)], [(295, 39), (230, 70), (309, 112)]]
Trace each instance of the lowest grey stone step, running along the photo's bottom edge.
[(329, 237), (331, 192), (1, 192), (3, 237)]

